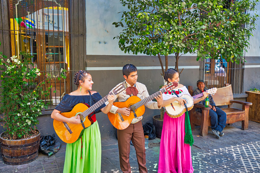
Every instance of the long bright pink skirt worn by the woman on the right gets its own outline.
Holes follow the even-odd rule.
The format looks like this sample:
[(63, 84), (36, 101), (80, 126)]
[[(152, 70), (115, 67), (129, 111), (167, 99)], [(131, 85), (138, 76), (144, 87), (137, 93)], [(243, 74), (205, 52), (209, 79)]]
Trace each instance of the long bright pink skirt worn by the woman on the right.
[(184, 143), (185, 113), (172, 118), (164, 113), (158, 173), (192, 173), (191, 146)]

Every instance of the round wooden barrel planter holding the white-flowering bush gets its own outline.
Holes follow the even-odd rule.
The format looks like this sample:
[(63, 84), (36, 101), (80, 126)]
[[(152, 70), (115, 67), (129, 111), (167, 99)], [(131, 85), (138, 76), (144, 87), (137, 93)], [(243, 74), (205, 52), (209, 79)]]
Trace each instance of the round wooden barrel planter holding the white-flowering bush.
[[(3, 132), (5, 133), (5, 132)], [(0, 135), (1, 153), (5, 164), (21, 165), (34, 161), (38, 157), (40, 131), (28, 139), (6, 140)]]

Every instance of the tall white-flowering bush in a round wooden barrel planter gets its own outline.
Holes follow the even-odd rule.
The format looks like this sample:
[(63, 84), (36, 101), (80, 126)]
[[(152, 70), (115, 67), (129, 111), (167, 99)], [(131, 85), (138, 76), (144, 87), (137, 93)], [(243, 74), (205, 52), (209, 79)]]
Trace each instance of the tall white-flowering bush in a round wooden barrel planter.
[(43, 91), (46, 80), (35, 82), (41, 73), (31, 62), (32, 56), (20, 55), (21, 59), (0, 55), (0, 65), (4, 67), (1, 68), (0, 113), (6, 129), (0, 135), (0, 143), (3, 160), (11, 165), (25, 164), (37, 158), (40, 140), (37, 117), (42, 108), (47, 108), (42, 98), (49, 95), (48, 90)]

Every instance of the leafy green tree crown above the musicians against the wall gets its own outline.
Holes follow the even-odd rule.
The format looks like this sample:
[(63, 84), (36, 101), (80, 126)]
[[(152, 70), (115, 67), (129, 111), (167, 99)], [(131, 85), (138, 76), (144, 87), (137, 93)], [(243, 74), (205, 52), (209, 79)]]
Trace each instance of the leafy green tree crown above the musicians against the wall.
[[(125, 53), (143, 53), (166, 57), (175, 54), (178, 70), (180, 54), (197, 54), (218, 59), (219, 54), (229, 62), (245, 61), (243, 51), (249, 47), (249, 37), (255, 29), (254, 13), (259, 0), (121, 0), (128, 10), (122, 20), (114, 22), (123, 27), (119, 47)], [(208, 56), (210, 55), (210, 56)], [(163, 65), (160, 60), (162, 72)]]

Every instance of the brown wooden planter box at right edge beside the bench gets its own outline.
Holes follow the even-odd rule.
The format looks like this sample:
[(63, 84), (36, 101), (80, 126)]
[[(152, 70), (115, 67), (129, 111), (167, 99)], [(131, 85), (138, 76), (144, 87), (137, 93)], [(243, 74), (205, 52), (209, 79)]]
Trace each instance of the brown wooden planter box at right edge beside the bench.
[(251, 88), (250, 91), (246, 91), (246, 93), (248, 94), (246, 101), (253, 103), (249, 108), (248, 118), (251, 121), (260, 122), (260, 90), (257, 88)]

